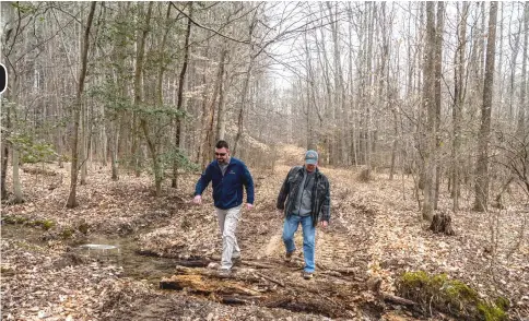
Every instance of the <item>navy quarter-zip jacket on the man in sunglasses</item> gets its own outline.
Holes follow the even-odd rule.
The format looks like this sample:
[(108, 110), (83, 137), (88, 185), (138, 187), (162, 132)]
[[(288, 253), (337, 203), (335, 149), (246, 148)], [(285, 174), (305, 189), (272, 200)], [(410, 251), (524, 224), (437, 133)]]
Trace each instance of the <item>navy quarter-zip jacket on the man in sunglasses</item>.
[(195, 195), (201, 195), (210, 181), (215, 207), (227, 210), (243, 204), (243, 186), (246, 187), (246, 202), (254, 204), (254, 180), (240, 159), (231, 157), (224, 176), (219, 162), (211, 162), (195, 187)]

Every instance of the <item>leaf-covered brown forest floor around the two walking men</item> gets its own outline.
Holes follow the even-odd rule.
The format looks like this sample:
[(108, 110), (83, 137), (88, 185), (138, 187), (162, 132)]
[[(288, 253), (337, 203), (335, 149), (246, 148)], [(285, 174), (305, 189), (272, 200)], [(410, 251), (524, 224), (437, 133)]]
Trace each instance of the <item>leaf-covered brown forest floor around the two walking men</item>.
[[(506, 297), (508, 318), (529, 320), (527, 209), (477, 213), (463, 193), (456, 235), (433, 234), (408, 177), (360, 182), (354, 169), (320, 168), (331, 183), (331, 224), (317, 230), (314, 280), (303, 280), (301, 231), (299, 251), (285, 264), (275, 213), (282, 180), (302, 154), (284, 146), (273, 171), (250, 168), (256, 207), (243, 210), (243, 262), (230, 278), (215, 272), (221, 238), (211, 188), (202, 205), (191, 203), (198, 174), (156, 198), (148, 175), (113, 181), (109, 168), (94, 169), (78, 187), (79, 206), (67, 209), (68, 166), (46, 164), (47, 174), (25, 166), (26, 202), (2, 204), (1, 319), (456, 320), (395, 299), (403, 272), (425, 271), (460, 280), (483, 299)], [(439, 207), (450, 204), (442, 194)], [(79, 249), (87, 242), (122, 249), (94, 255)]]

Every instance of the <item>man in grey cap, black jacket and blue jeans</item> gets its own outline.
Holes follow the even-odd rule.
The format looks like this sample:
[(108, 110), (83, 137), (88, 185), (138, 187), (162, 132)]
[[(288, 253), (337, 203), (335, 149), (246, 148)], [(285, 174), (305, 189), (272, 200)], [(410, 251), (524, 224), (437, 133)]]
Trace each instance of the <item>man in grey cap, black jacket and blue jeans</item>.
[[(286, 201), (286, 204), (285, 204)], [(330, 187), (327, 177), (318, 169), (318, 153), (305, 153), (305, 166), (291, 168), (278, 197), (278, 210), (285, 216), (283, 242), (285, 261), (296, 249), (294, 234), (299, 224), (303, 228), (303, 277), (313, 278), (315, 271), (316, 226), (327, 227), (330, 219)]]

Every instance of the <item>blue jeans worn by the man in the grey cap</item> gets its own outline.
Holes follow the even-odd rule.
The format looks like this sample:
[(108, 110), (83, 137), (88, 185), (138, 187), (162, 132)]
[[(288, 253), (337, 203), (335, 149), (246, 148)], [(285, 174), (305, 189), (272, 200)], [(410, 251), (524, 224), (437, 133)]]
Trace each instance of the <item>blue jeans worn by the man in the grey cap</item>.
[(313, 225), (313, 217), (310, 215), (287, 215), (283, 225), (283, 242), (287, 253), (296, 249), (294, 234), (299, 223), (303, 228), (303, 257), (305, 259), (305, 268), (303, 270), (313, 273), (315, 270), (314, 253), (316, 250), (316, 227)]

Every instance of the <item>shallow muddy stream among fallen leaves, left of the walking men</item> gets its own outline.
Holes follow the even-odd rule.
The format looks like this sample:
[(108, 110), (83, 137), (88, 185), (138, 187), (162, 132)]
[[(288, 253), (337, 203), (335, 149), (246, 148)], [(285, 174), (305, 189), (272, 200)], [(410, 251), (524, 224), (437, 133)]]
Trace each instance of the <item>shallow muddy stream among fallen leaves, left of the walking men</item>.
[[(1, 225), (2, 239), (23, 240), (46, 248), (43, 240), (44, 230), (24, 225)], [(64, 241), (68, 243), (68, 241)], [(85, 242), (69, 243), (73, 251), (81, 257), (96, 259), (103, 265), (117, 265), (124, 269), (122, 276), (145, 280), (158, 285), (162, 277), (171, 276), (175, 272), (176, 260), (138, 254), (138, 245), (133, 236), (106, 237), (91, 236)], [(86, 245), (90, 245), (86, 247)], [(93, 245), (111, 246), (103, 249)]]

